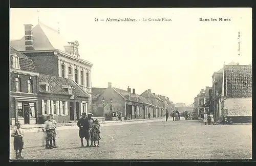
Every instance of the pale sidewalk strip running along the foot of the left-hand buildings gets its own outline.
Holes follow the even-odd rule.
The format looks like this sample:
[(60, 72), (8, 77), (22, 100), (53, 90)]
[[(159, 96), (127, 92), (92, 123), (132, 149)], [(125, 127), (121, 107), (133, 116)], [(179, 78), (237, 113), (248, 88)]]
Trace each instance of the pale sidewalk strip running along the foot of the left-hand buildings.
[[(134, 120), (127, 120), (127, 121), (104, 121), (101, 122), (100, 124), (111, 124), (111, 123), (125, 123), (125, 122), (134, 122), (134, 121), (151, 121), (151, 120), (158, 120), (158, 119), (162, 119), (165, 117), (154, 117), (151, 119), (134, 119)], [(77, 122), (73, 122), (73, 123), (59, 123), (57, 124), (57, 127), (62, 127), (62, 126), (76, 126)], [(44, 127), (44, 124), (37, 124), (37, 125), (22, 125), (20, 126), (20, 128), (22, 129), (39, 129)], [(14, 128), (14, 126), (10, 125), (10, 129), (12, 130)]]

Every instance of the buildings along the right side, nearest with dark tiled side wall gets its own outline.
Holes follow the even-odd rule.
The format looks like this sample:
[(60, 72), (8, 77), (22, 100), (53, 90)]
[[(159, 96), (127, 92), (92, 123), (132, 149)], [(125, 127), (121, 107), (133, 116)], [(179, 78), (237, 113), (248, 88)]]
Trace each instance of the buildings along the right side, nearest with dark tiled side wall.
[(204, 106), (214, 113), (215, 121), (227, 116), (234, 123), (251, 123), (252, 65), (224, 63), (223, 68), (212, 75), (207, 98)]

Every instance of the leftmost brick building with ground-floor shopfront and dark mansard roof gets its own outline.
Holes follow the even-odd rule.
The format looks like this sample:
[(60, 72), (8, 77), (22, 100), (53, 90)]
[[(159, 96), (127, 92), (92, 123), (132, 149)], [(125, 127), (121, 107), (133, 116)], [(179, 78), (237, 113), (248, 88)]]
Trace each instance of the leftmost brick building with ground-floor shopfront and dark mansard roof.
[(30, 58), (10, 47), (10, 124), (36, 124), (39, 74)]

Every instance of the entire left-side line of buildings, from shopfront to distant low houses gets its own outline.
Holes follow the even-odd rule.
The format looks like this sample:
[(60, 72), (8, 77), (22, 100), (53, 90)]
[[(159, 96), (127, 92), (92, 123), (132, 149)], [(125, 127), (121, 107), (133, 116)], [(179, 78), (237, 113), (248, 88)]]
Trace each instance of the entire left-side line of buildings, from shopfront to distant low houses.
[(24, 29), (24, 37), (10, 42), (11, 125), (38, 124), (50, 113), (58, 123), (68, 123), (82, 112), (103, 117), (111, 109), (130, 118), (147, 118), (148, 113), (159, 117), (174, 107), (150, 89), (139, 95), (111, 83), (108, 88), (92, 88), (93, 64), (80, 58), (77, 41), (65, 42), (59, 31), (41, 22)]

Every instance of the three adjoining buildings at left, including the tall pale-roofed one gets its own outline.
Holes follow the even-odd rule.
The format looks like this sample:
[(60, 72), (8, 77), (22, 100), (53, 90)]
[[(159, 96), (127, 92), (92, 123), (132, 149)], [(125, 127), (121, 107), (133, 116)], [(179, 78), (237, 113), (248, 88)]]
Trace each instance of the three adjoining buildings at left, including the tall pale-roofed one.
[(77, 41), (38, 22), (10, 42), (10, 123), (37, 124), (55, 114), (58, 123), (76, 121), (92, 104), (93, 64), (80, 58)]

